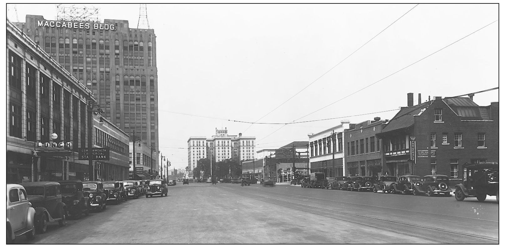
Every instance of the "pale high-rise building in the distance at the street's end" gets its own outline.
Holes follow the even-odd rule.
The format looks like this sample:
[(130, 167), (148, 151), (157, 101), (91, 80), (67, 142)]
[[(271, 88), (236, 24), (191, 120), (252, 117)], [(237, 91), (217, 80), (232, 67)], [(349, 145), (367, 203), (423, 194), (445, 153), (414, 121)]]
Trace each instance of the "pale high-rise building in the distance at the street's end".
[(197, 161), (208, 158), (214, 162), (231, 159), (244, 161), (255, 158), (255, 136), (229, 135), (228, 130), (218, 130), (210, 138), (205, 136), (191, 136), (188, 138), (188, 171), (191, 174), (197, 166)]

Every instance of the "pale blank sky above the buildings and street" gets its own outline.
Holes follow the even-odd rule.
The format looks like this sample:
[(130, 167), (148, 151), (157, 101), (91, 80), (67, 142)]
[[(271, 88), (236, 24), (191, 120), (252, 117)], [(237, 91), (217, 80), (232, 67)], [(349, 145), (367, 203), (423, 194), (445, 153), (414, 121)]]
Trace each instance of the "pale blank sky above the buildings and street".
[[(15, 6), (20, 22), (27, 14), (57, 16), (55, 4)], [(210, 137), (215, 128), (256, 136), (257, 151), (275, 149), (345, 119), (392, 119), (397, 111), (370, 113), (407, 106), (409, 92), (417, 104), (418, 93), (426, 101), (499, 86), (498, 5), (415, 6), (148, 4), (157, 41), (162, 154), (184, 168), (188, 138)], [(102, 21), (137, 27), (139, 4), (87, 7), (100, 8)], [(7, 17), (16, 21), (14, 5), (7, 6)], [(499, 101), (498, 90), (474, 100), (488, 106)], [(263, 116), (259, 122), (338, 119), (285, 126), (229, 121)]]

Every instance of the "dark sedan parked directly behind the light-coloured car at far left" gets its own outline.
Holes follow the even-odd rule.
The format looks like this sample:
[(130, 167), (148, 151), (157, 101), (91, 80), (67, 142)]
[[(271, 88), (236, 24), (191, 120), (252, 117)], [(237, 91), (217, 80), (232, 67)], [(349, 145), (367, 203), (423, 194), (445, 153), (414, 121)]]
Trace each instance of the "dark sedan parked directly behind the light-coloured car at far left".
[(48, 222), (65, 225), (67, 207), (62, 202), (60, 183), (39, 181), (22, 183), (28, 195), (28, 201), (35, 209), (35, 228), (38, 233), (45, 233)]

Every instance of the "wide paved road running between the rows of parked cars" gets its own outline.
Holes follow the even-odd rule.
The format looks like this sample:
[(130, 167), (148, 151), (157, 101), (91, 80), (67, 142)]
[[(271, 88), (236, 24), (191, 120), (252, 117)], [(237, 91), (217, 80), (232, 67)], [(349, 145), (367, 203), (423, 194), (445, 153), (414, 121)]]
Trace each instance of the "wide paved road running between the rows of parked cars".
[(18, 243), (498, 243), (494, 200), (190, 183)]

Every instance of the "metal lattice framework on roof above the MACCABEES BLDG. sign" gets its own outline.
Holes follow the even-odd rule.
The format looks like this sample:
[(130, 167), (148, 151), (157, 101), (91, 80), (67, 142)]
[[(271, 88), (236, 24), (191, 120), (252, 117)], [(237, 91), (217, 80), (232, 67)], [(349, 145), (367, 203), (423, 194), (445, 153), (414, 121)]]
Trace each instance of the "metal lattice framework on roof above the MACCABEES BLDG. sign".
[(82, 21), (82, 22), (100, 22), (98, 18), (98, 8), (86, 6), (64, 6), (59, 4), (56, 6), (58, 11), (57, 20), (63, 21)]

